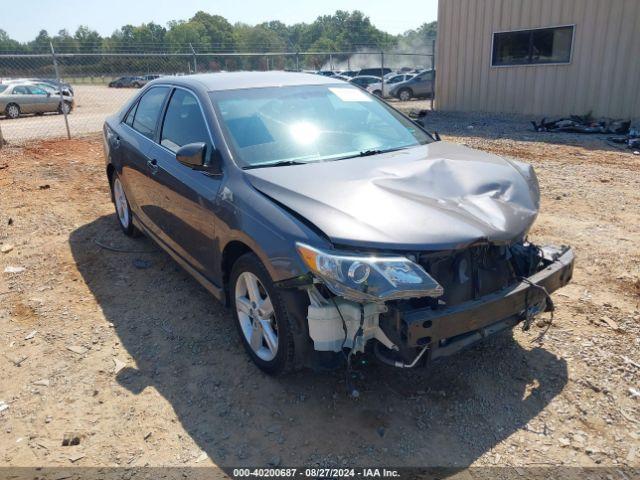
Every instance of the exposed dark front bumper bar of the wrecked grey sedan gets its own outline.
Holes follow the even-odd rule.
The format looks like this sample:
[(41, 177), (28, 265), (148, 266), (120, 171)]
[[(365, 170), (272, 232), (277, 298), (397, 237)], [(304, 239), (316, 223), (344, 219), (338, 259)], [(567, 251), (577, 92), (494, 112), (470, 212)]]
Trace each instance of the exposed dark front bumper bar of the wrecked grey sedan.
[[(531, 275), (528, 281), (551, 293), (571, 280), (573, 263), (574, 254), (568, 248), (543, 270)], [(544, 306), (545, 300), (541, 289), (522, 281), (508, 289), (456, 306), (435, 310), (427, 307), (396, 314), (400, 316), (398, 323), (404, 331), (403, 347), (429, 345), (428, 358), (435, 359), (513, 327), (524, 320), (527, 309)]]

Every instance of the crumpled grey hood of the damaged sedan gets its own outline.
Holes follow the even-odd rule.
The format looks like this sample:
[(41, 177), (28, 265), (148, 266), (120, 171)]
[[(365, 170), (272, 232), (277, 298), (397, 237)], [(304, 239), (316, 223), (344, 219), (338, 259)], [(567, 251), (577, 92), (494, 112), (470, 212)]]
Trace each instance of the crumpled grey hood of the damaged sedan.
[(447, 142), (245, 173), (333, 243), (355, 247), (510, 242), (526, 235), (539, 208), (531, 166)]

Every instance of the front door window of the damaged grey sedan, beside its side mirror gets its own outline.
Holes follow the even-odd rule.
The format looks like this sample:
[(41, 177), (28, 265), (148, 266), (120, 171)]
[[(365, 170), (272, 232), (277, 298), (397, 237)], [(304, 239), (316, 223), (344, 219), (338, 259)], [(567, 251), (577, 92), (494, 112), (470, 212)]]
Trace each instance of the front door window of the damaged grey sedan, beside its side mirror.
[(181, 89), (176, 89), (164, 117), (160, 144), (176, 152), (189, 143), (204, 142), (210, 151), (209, 131), (196, 97)]

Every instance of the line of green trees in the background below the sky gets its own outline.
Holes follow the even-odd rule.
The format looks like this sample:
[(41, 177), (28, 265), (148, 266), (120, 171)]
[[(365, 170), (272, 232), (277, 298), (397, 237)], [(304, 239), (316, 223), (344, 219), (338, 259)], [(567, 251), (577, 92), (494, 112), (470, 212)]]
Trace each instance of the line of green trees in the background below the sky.
[[(319, 16), (312, 23), (293, 25), (285, 25), (278, 20), (258, 25), (231, 24), (220, 15), (199, 11), (188, 20), (170, 21), (166, 26), (153, 22), (124, 25), (107, 37), (83, 25), (73, 34), (66, 29), (55, 35), (41, 30), (33, 40), (18, 42), (0, 29), (0, 53), (46, 54), (50, 53), (50, 43), (54, 45), (57, 53), (73, 54), (392, 51), (420, 49), (422, 46), (430, 45), (431, 40), (435, 38), (436, 30), (436, 22), (431, 22), (400, 35), (391, 35), (376, 28), (370, 19), (358, 10), (338, 10), (332, 15)], [(294, 62), (291, 56), (273, 57), (270, 60), (272, 64), (267, 64), (267, 68), (292, 68)], [(341, 60), (344, 58), (336, 59), (338, 62)], [(320, 68), (327, 62), (327, 56), (305, 56), (303, 61), (306, 68)], [(264, 69), (265, 62), (269, 62), (269, 59), (264, 56), (215, 58), (212, 55), (211, 58), (200, 62), (198, 68)], [(180, 59), (174, 59), (171, 63), (175, 64), (171, 67), (178, 70), (195, 68), (195, 65), (192, 67), (191, 63), (186, 64)], [(68, 66), (71, 67), (72, 64), (69, 60)], [(8, 66), (6, 62), (0, 62), (0, 67)], [(117, 71), (133, 73), (134, 70), (157, 70), (162, 65), (156, 67), (149, 60), (128, 57), (99, 57), (92, 66), (99, 71), (114, 71), (115, 68)]]

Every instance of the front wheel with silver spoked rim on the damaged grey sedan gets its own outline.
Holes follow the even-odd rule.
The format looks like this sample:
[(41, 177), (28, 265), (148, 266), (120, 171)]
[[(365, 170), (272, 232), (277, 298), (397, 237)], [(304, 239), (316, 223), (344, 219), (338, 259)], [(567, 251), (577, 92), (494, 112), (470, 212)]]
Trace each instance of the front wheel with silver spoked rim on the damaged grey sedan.
[(290, 314), (269, 272), (253, 253), (231, 269), (231, 307), (242, 343), (253, 362), (270, 375), (293, 369)]

